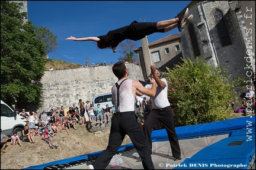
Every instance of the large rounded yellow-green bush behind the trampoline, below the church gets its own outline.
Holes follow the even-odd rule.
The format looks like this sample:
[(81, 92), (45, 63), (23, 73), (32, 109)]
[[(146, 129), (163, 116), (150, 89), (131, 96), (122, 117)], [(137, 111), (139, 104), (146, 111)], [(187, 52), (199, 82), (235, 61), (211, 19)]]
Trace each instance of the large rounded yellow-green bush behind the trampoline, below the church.
[(168, 100), (175, 126), (196, 125), (231, 118), (229, 102), (235, 99), (233, 85), (218, 68), (206, 61), (183, 59), (173, 70), (167, 68)]

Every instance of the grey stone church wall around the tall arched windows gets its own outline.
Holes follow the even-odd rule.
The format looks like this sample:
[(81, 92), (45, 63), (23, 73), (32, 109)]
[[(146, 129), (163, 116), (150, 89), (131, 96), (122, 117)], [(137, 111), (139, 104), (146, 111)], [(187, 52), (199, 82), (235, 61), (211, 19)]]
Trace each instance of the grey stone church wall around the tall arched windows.
[[(244, 15), (244, 12), (240, 12), (246, 11), (248, 6), (244, 4), (241, 5), (241, 8), (233, 9), (230, 8), (230, 5), (238, 5), (236, 1), (203, 1), (203, 5), (201, 2), (202, 1), (193, 1), (189, 5), (189, 14), (194, 15), (193, 21), (190, 23), (194, 27), (201, 53), (201, 55), (197, 57), (199, 57), (199, 59), (204, 58), (208, 63), (213, 63), (215, 66), (217, 66), (217, 63), (219, 63), (219, 66), (221, 66), (223, 70), (226, 70), (227, 74), (232, 75), (231, 78), (246, 76), (244, 67), (246, 67), (248, 63), (244, 58), (244, 56), (247, 56), (247, 54), (245, 42), (242, 40), (244, 40), (244, 37), (250, 35), (244, 35), (244, 37), (241, 36), (242, 34), (245, 34), (246, 30), (241, 23), (249, 24), (249, 22), (244, 21), (245, 17), (240, 16)], [(219, 38), (219, 32), (216, 28), (216, 10), (222, 12), (223, 19), (225, 20), (226, 27), (231, 38), (231, 44), (226, 46), (222, 46)], [(204, 18), (204, 14), (206, 18)], [(254, 24), (254, 22), (252, 22), (252, 24)], [(184, 28), (181, 34), (183, 35), (181, 38), (183, 57), (190, 57), (191, 60), (194, 61), (196, 56), (194, 55), (193, 47), (191, 45), (188, 27)], [(255, 33), (252, 35), (255, 35)]]

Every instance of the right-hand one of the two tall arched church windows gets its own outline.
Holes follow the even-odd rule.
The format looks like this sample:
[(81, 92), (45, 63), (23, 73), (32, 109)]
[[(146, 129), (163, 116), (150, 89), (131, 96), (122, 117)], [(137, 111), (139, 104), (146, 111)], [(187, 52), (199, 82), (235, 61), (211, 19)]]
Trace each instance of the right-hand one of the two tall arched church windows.
[(229, 32), (226, 27), (225, 19), (223, 18), (222, 11), (216, 9), (215, 11), (215, 22), (217, 27), (217, 32), (219, 34), (220, 41), (222, 46), (230, 45), (231, 39), (229, 37)]

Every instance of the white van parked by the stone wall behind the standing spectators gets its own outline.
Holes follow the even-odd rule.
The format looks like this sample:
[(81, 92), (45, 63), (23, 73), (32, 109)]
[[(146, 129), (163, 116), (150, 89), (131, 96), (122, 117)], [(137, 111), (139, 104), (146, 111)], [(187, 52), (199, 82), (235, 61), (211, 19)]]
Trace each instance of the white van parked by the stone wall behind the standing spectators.
[(92, 107), (94, 107), (94, 111), (97, 109), (97, 104), (100, 104), (100, 107), (105, 110), (105, 105), (108, 104), (108, 107), (112, 107), (113, 104), (111, 102), (112, 99), (112, 93), (106, 93), (106, 94), (100, 94), (97, 96), (94, 96), (92, 98)]

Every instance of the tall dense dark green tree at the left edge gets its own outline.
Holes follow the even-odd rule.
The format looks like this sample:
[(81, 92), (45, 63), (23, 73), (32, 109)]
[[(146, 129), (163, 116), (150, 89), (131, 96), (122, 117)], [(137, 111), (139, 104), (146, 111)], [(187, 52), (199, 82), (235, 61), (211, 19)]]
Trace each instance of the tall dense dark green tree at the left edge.
[(1, 100), (18, 108), (40, 107), (46, 50), (36, 27), (24, 23), (22, 5), (1, 1)]

